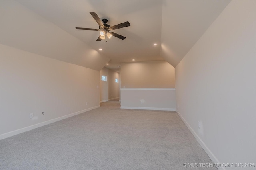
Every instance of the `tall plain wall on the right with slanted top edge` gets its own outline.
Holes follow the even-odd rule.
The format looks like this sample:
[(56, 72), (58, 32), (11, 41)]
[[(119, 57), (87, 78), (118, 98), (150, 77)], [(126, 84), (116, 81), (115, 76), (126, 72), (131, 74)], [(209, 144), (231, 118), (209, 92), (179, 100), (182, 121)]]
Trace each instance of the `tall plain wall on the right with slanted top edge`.
[(256, 163), (255, 6), (231, 1), (175, 68), (176, 109), (214, 163)]

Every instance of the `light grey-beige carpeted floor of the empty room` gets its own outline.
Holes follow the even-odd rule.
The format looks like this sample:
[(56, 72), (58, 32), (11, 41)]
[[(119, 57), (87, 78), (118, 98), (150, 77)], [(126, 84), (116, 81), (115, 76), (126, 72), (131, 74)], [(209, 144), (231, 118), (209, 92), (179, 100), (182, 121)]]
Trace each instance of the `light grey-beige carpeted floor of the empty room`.
[(184, 163), (212, 161), (175, 111), (118, 101), (0, 141), (1, 170), (200, 169)]

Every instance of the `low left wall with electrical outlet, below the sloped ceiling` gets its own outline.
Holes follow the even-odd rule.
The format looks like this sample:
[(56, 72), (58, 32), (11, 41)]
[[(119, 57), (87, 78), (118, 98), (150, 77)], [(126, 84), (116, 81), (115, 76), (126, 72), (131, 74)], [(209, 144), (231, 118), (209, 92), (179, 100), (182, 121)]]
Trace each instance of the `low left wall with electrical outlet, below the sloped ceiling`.
[(6, 45), (0, 57), (1, 135), (99, 106), (99, 71)]

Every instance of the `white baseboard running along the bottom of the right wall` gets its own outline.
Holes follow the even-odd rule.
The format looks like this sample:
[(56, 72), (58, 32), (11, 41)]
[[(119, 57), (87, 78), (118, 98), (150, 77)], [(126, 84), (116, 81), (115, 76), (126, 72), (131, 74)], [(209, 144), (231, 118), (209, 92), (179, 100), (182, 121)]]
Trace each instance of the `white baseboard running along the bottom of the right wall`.
[[(201, 147), (204, 149), (204, 151), (206, 152), (206, 154), (208, 154), (208, 156), (210, 157), (210, 159), (212, 160), (212, 162), (214, 164), (219, 164), (220, 161), (216, 158), (216, 156), (212, 153), (212, 151), (206, 146), (206, 144), (204, 143), (204, 141), (202, 141), (202, 139), (196, 134), (196, 132), (192, 129), (192, 127), (188, 124), (188, 122), (184, 119), (184, 117), (182, 117), (182, 115), (179, 113), (179, 111), (176, 109), (176, 112), (178, 113), (178, 115), (180, 116), (180, 119), (182, 119), (182, 121), (185, 123), (185, 125), (188, 127), (188, 129), (190, 130), (190, 132), (192, 133), (192, 135), (194, 135), (194, 137), (196, 138), (196, 140), (198, 141), (198, 143), (201, 145)], [(224, 167), (217, 167), (218, 170), (226, 170), (226, 168)]]

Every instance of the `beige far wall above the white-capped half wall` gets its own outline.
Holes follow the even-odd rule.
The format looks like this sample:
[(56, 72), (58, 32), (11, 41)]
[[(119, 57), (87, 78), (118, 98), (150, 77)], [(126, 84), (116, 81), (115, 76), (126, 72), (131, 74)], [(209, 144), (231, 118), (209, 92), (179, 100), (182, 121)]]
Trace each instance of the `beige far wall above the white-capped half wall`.
[(121, 63), (121, 88), (175, 88), (174, 67), (166, 61)]

